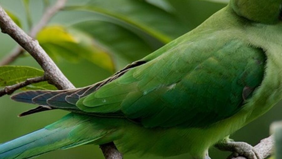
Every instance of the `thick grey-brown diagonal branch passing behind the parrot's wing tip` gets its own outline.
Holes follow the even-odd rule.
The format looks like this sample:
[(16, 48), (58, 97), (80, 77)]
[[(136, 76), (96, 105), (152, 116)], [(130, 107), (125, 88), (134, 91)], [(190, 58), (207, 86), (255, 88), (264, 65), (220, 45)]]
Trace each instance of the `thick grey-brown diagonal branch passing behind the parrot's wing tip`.
[[(53, 83), (58, 89), (74, 89), (74, 85), (65, 77), (57, 65), (46, 54), (38, 41), (28, 36), (19, 28), (0, 6), (0, 28), (3, 33), (9, 34), (18, 44), (33, 56), (42, 67), (45, 78)], [(100, 146), (106, 159), (122, 159), (123, 155), (118, 152), (113, 142)], [(109, 151), (111, 150), (111, 151)], [(115, 152), (115, 153), (113, 153)]]

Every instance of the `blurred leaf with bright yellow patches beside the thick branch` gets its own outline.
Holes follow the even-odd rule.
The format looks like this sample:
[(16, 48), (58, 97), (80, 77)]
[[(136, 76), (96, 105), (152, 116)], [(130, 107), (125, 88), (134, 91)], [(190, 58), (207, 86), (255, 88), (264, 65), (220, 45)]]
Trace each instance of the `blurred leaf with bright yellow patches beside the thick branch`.
[(43, 49), (55, 60), (64, 58), (78, 62), (86, 59), (108, 71), (114, 71), (111, 56), (95, 45), (91, 36), (86, 33), (63, 26), (49, 26), (38, 33), (37, 39)]

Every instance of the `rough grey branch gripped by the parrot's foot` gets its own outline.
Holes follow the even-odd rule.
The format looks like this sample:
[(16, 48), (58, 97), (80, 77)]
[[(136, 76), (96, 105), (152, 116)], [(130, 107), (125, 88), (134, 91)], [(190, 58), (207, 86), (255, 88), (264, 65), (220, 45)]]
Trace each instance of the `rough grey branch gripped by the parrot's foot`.
[[(274, 139), (273, 135), (261, 140), (254, 148), (261, 154), (263, 158), (266, 158), (274, 152)], [(232, 159), (247, 159), (245, 157), (236, 157)]]

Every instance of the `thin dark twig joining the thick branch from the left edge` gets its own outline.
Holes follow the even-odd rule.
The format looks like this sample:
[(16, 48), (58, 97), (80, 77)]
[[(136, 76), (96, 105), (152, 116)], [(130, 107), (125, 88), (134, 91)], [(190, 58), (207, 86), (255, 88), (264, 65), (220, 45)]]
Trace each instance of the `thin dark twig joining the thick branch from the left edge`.
[(2, 97), (3, 95), (10, 95), (14, 91), (16, 91), (20, 88), (23, 88), (23, 87), (30, 85), (30, 84), (33, 84), (33, 83), (39, 83), (39, 82), (42, 82), (42, 81), (46, 81), (44, 76), (26, 79), (24, 82), (20, 82), (20, 83), (15, 84), (15, 85), (6, 86), (3, 90), (0, 90), (0, 97)]

